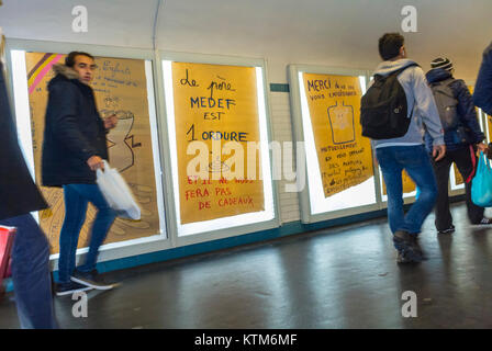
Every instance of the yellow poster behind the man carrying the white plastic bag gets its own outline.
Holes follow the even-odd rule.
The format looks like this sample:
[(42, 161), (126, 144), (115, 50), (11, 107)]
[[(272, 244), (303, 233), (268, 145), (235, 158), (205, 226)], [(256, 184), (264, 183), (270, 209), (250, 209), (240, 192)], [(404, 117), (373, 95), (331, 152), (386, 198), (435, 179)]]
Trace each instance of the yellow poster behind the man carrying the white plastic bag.
[[(64, 63), (64, 55), (26, 53), (30, 110), (36, 180), (41, 180), (41, 157), (44, 118), (48, 99), (47, 82), (54, 77), (51, 69)], [(96, 78), (91, 83), (101, 117), (115, 113), (118, 126), (107, 135), (110, 165), (128, 183), (142, 210), (141, 220), (116, 218), (105, 244), (143, 238), (159, 234), (154, 156), (148, 114), (145, 60), (97, 57)], [(65, 204), (63, 190), (42, 186), (51, 207), (41, 212), (41, 227), (48, 236), (52, 253), (59, 251), (58, 240)], [(88, 246), (89, 228), (96, 210), (89, 205), (86, 224), (80, 231), (78, 247)]]

